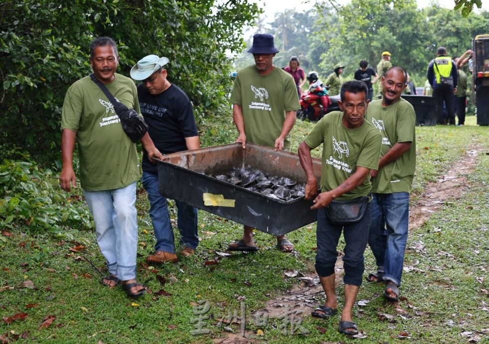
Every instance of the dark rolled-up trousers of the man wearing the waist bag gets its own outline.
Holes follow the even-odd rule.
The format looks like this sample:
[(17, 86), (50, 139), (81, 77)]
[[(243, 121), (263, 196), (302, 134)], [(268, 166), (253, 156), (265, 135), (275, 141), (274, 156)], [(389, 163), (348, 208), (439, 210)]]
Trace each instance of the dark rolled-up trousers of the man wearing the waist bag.
[(370, 203), (367, 204), (365, 215), (360, 221), (344, 226), (329, 222), (325, 208), (318, 210), (316, 272), (320, 277), (334, 274), (334, 263), (338, 257), (336, 246), (338, 246), (342, 230), (346, 244), (343, 250), (343, 282), (354, 286), (362, 284), (365, 268), (363, 253), (367, 246), (368, 228), (370, 226)]

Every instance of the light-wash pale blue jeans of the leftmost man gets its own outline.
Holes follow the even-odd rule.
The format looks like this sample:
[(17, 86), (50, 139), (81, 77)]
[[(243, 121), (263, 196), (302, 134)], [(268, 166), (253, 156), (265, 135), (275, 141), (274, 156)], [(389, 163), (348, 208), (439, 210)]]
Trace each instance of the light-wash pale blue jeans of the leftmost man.
[(83, 190), (93, 215), (100, 251), (111, 275), (122, 281), (136, 278), (138, 220), (136, 182), (115, 190)]

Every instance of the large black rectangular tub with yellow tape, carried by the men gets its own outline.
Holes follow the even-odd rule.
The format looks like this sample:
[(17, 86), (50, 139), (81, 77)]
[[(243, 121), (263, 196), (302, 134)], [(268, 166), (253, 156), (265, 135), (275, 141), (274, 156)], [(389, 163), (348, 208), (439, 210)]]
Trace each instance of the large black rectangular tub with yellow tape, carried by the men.
[[(304, 196), (291, 201), (271, 199), (210, 176), (248, 165), (271, 175), (306, 182), (297, 154), (252, 144), (243, 150), (241, 144), (231, 144), (163, 156), (158, 161), (160, 193), (273, 235), (316, 221), (317, 211), (310, 209), (313, 202)], [(320, 180), (321, 160), (314, 158), (313, 167)], [(234, 200), (234, 207), (204, 205), (204, 193), (222, 194), (225, 199)]]

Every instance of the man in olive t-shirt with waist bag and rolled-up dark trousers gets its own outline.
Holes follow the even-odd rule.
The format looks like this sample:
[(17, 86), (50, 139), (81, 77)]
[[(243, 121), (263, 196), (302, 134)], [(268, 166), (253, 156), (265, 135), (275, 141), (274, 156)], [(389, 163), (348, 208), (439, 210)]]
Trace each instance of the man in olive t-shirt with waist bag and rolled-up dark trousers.
[[(354, 223), (333, 223), (326, 215), (326, 206), (333, 199), (348, 201), (367, 196), (372, 185), (370, 171), (377, 170), (381, 136), (377, 128), (364, 120), (368, 105), (367, 86), (358, 80), (341, 86), (341, 111), (323, 117), (299, 146), (301, 166), (306, 172), (306, 199), (314, 199), (311, 209), (318, 209), (316, 230), (316, 271), (326, 293), (326, 303), (317, 307), (312, 316), (326, 319), (337, 312), (334, 292), (334, 264), (336, 246), (343, 232), (346, 243), (343, 256), (345, 302), (338, 331), (345, 335), (357, 334), (352, 322), (352, 309), (360, 289), (364, 271), (365, 247), (370, 226), (370, 203), (365, 213)], [(323, 145), (321, 193), (316, 196), (317, 178), (313, 171), (311, 150)], [(316, 197), (315, 197), (316, 196)]]

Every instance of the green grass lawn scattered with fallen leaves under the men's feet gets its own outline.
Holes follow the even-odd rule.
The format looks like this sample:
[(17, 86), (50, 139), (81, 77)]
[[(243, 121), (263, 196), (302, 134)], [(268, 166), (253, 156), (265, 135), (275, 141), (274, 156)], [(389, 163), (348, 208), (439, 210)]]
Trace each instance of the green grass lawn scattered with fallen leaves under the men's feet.
[[(311, 128), (310, 123), (297, 122), (291, 135), (293, 152)], [(410, 232), (399, 304), (385, 302), (379, 284), (365, 282), (360, 288), (357, 301), (362, 301), (354, 307), (354, 321), (365, 337), (361, 343), (488, 343), (488, 127), (476, 126), (475, 117), (469, 116), (465, 127), (416, 131), (413, 202), (467, 150), (478, 151), (476, 167), (460, 199), (445, 202), (427, 223)], [(212, 146), (232, 143), (236, 132), (229, 123), (208, 119), (201, 135), (204, 146)], [(320, 156), (320, 151), (314, 154)], [(1, 343), (220, 343), (231, 332), (245, 340), (242, 328), (253, 343), (357, 341), (338, 334), (339, 315), (329, 321), (296, 315), (302, 323), (292, 324), (295, 332), (287, 323), (290, 316), (266, 322), (266, 314), (255, 317), (267, 300), (299, 282), (285, 277), (285, 271), (314, 267), (314, 223), (288, 235), (297, 254), (278, 251), (273, 237), (256, 231), (260, 251), (222, 256), (226, 243), (241, 237), (242, 226), (199, 211), (201, 242), (195, 254), (176, 264), (149, 266), (145, 257), (155, 239), (146, 194), (141, 185), (139, 190), (138, 280), (148, 286), (148, 294), (131, 300), (120, 287), (98, 283), (102, 275), (92, 264), (102, 273), (106, 270), (93, 230), (76, 228), (74, 240), (33, 234), (27, 227), (3, 231)], [(365, 269), (375, 269), (368, 248)], [(342, 288), (337, 293), (342, 307)], [(324, 295), (316, 299), (319, 305)]]

